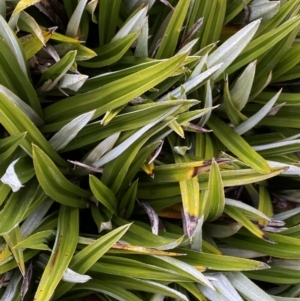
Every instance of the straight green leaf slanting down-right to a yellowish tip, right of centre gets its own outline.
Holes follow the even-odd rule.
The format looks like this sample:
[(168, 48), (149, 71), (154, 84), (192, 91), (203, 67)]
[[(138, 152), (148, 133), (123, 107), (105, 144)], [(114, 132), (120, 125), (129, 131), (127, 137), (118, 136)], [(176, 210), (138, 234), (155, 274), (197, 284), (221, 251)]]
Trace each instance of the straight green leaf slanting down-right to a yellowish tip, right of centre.
[(211, 115), (208, 126), (214, 135), (237, 157), (257, 172), (268, 174), (271, 172), (268, 163), (234, 130), (214, 115)]

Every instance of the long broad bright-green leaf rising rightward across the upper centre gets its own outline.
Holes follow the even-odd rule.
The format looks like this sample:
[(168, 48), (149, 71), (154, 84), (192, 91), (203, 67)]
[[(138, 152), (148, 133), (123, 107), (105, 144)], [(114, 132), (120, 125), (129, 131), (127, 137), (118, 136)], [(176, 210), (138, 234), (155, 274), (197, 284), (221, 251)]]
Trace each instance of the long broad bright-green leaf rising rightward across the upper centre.
[(140, 96), (174, 74), (178, 67), (183, 64), (185, 58), (186, 54), (176, 55), (169, 60), (145, 68), (91, 92), (64, 99), (45, 109), (45, 120), (47, 123), (58, 122), (59, 129), (61, 123), (66, 124), (68, 119), (78, 116), (78, 113), (83, 114), (96, 109), (94, 118), (97, 118), (103, 113)]

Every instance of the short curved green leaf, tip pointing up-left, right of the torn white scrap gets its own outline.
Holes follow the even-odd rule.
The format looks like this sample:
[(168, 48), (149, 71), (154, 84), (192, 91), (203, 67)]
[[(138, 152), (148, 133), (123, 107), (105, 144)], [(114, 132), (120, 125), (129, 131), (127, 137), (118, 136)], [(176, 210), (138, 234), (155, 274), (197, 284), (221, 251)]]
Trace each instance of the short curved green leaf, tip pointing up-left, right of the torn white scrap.
[(33, 164), (38, 181), (53, 200), (71, 207), (86, 208), (90, 192), (68, 181), (52, 160), (36, 145), (33, 149)]

